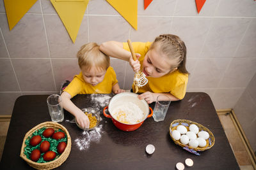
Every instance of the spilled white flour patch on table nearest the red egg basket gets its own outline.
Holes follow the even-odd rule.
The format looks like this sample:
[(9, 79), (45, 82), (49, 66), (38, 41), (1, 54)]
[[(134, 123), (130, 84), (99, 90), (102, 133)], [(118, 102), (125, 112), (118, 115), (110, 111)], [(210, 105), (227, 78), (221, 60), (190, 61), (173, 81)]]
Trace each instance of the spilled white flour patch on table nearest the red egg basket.
[(75, 139), (76, 146), (79, 150), (86, 150), (90, 147), (91, 142), (99, 143), (102, 133), (102, 125), (95, 127), (92, 131), (83, 131), (80, 138)]

